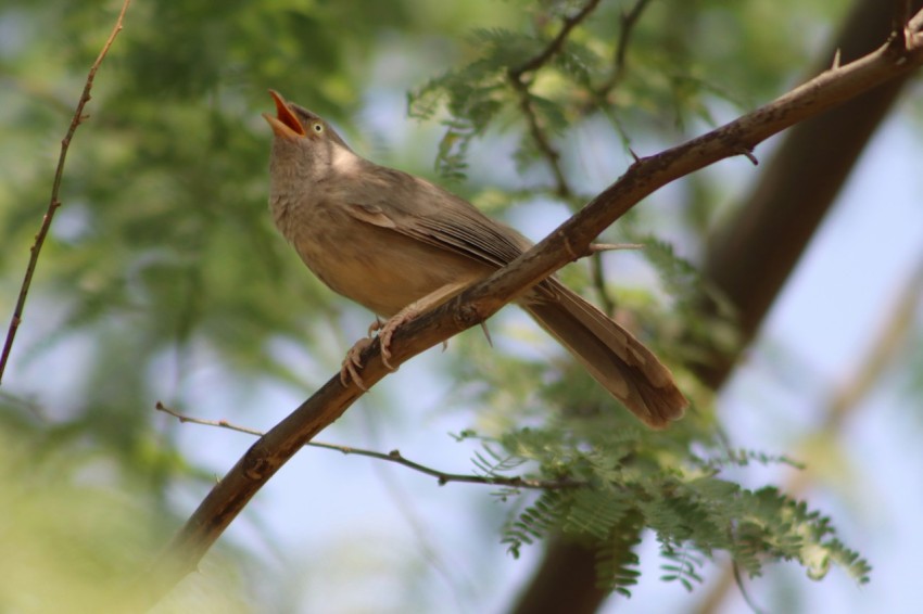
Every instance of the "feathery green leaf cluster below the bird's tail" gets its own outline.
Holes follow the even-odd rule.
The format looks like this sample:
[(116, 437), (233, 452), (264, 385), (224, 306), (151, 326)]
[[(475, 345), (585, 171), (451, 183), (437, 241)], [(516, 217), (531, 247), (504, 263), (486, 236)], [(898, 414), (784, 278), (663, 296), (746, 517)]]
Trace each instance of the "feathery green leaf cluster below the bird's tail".
[[(717, 447), (711, 456), (682, 459), (674, 443), (663, 445), (659, 435), (614, 426), (606, 419), (559, 420), (485, 438), (497, 462), (489, 465), (480, 456), (481, 472), (504, 475), (528, 462), (539, 468), (531, 477), (572, 485), (546, 490), (513, 512), (502, 541), (514, 557), (526, 545), (561, 534), (596, 550), (600, 587), (628, 593), (637, 576), (634, 548), (647, 528), (660, 545), (662, 579), (688, 589), (719, 551), (750, 577), (768, 563), (797, 561), (812, 579), (836, 564), (857, 581), (869, 580), (868, 562), (843, 545), (829, 517), (773, 486), (748, 489), (720, 475), (722, 468), (754, 460), (788, 459)], [(509, 499), (514, 493), (501, 495)]]

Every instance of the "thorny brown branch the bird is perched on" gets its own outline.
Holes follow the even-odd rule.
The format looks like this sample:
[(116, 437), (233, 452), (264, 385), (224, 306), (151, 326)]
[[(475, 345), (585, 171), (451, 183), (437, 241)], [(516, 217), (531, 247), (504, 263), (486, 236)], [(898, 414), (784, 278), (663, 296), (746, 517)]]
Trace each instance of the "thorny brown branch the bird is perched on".
[[(908, 46), (887, 44), (840, 68), (831, 69), (775, 102), (721, 128), (658, 155), (638, 159), (616, 183), (532, 250), (473, 284), (454, 299), (399, 329), (391, 362), (400, 364), (458, 332), (476, 325), (568, 261), (645, 196), (670, 181), (719, 159), (749, 152), (768, 137), (831, 108), (870, 88), (908, 74), (923, 63), (923, 14)], [(388, 374), (380, 346), (364, 355), (363, 379), (372, 385)], [(208, 548), (256, 491), (318, 432), (337, 420), (359, 396), (343, 387), (339, 374), (256, 442), (215, 485), (132, 592), (135, 603), (153, 603), (193, 571)]]

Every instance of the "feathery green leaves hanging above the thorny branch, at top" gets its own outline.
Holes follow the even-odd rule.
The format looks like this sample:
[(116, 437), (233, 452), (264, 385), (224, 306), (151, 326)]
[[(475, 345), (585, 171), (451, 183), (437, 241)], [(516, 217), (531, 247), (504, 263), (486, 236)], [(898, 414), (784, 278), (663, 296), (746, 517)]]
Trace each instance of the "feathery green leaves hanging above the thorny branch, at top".
[[(602, 2), (555, 46), (564, 20), (583, 4), (543, 2), (529, 10), (531, 27), (475, 29), (467, 63), (408, 94), (412, 117), (439, 116), (445, 125), (435, 159), (443, 177), (464, 177), (472, 140), (490, 126), (513, 127), (521, 135), (516, 152), (521, 169), (548, 153), (529, 136), (529, 121), (557, 137), (602, 116), (625, 145), (652, 132), (674, 138), (694, 121), (715, 124), (716, 103), (750, 103), (731, 91), (773, 91), (787, 78), (785, 68), (806, 51), (787, 38), (783, 44), (780, 30), (768, 26), (768, 21), (784, 21), (782, 14), (758, 7), (729, 13), (716, 1), (645, 3), (643, 18), (630, 25), (624, 13), (635, 2)], [(759, 31), (746, 30), (756, 24)], [(706, 34), (719, 28), (720, 40)], [(729, 46), (746, 54), (746, 71), (728, 64)], [(552, 48), (554, 53), (532, 65)]]

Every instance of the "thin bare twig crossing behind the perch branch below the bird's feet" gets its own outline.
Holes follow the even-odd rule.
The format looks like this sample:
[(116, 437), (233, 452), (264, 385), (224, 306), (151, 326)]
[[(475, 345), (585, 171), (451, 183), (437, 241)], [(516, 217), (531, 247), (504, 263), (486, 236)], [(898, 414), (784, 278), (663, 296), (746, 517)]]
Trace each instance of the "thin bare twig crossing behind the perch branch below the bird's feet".
[[(185, 413), (180, 413), (175, 409), (170, 409), (165, 406), (161, 401), (154, 406), (154, 409), (157, 411), (163, 411), (164, 413), (168, 413), (173, 415), (177, 420), (182, 423), (189, 422), (191, 424), (201, 424), (203, 426), (215, 426), (217, 428), (227, 428), (229, 431), (235, 431), (237, 433), (245, 433), (248, 435), (253, 435), (255, 437), (262, 437), (265, 433), (257, 431), (255, 428), (250, 428), (248, 426), (241, 426), (239, 424), (233, 424), (232, 422), (228, 422), (227, 420), (204, 420), (202, 418), (192, 418), (191, 415), (186, 415)], [(444, 471), (439, 471), (438, 469), (432, 469), (425, 464), (420, 464), (418, 462), (414, 462), (404, 456), (401, 455), (399, 450), (391, 450), (390, 452), (378, 452), (375, 450), (366, 450), (364, 448), (354, 448), (352, 446), (339, 446), (337, 444), (326, 444), (324, 442), (307, 442), (305, 447), (312, 448), (321, 448), (325, 450), (336, 450), (338, 452), (342, 452), (344, 455), (355, 455), (359, 457), (368, 457), (372, 459), (383, 460), (388, 462), (397, 463), (402, 466), (406, 466), (408, 469), (413, 469), (419, 473), (425, 475), (430, 475), (439, 479), (439, 485), (442, 486), (444, 484), (448, 484), (450, 482), (459, 482), (463, 484), (488, 484), (490, 486), (508, 486), (510, 488), (535, 488), (542, 490), (560, 490), (562, 488), (576, 488), (577, 486), (583, 485), (582, 482), (573, 481), (573, 479), (533, 479), (530, 477), (522, 476), (511, 476), (505, 477), (500, 475), (470, 475), (463, 473), (447, 473)]]

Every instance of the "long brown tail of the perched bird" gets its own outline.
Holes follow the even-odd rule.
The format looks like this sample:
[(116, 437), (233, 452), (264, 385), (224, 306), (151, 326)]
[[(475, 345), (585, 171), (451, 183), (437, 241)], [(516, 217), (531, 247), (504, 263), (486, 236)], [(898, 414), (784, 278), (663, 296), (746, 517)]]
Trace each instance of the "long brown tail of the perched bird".
[(521, 305), (645, 424), (663, 428), (683, 415), (688, 401), (670, 370), (603, 311), (553, 279)]

